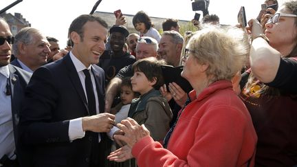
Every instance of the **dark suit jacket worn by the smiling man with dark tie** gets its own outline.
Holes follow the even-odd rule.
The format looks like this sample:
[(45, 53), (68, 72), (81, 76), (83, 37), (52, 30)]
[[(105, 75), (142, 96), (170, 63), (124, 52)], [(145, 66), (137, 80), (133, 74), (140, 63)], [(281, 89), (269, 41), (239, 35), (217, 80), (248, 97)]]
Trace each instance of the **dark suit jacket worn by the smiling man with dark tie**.
[[(104, 71), (97, 65), (93, 67), (102, 112)], [(83, 86), (69, 54), (34, 71), (24, 102), (20, 137), (21, 144), (32, 148), (32, 166), (89, 166), (91, 149), (100, 151), (92, 145), (94, 133), (86, 132), (85, 137), (69, 141), (69, 120), (89, 115)]]

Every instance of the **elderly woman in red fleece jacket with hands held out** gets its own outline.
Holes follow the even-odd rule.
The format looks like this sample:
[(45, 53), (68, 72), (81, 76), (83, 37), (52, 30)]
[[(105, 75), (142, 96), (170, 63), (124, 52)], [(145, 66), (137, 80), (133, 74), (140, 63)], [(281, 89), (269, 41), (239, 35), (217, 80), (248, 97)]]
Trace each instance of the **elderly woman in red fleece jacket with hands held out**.
[(243, 67), (248, 45), (238, 28), (208, 27), (186, 46), (184, 70), (193, 89), (163, 146), (133, 119), (118, 127), (126, 142), (109, 159), (131, 157), (138, 166), (253, 166), (256, 133), (248, 109), (232, 89), (232, 77)]

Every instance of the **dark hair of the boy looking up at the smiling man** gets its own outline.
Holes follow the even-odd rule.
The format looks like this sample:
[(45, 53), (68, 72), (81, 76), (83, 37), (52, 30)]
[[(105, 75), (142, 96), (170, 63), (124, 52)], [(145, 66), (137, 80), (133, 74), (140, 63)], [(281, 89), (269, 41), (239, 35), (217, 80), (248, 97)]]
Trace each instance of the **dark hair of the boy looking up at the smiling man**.
[(133, 65), (133, 71), (143, 72), (148, 80), (153, 81), (155, 78), (157, 81), (153, 87), (159, 89), (164, 85), (164, 78), (162, 74), (161, 65), (165, 65), (164, 60), (157, 60), (155, 57), (142, 58), (137, 60)]

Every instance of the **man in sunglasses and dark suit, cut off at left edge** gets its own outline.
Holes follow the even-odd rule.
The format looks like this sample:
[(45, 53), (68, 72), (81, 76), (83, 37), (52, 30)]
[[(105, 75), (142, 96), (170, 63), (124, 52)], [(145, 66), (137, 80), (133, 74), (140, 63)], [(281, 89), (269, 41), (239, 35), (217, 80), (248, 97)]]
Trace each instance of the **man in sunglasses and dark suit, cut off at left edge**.
[(14, 42), (8, 23), (0, 18), (0, 166), (19, 166), (16, 149), (20, 104), (31, 74), (9, 65)]

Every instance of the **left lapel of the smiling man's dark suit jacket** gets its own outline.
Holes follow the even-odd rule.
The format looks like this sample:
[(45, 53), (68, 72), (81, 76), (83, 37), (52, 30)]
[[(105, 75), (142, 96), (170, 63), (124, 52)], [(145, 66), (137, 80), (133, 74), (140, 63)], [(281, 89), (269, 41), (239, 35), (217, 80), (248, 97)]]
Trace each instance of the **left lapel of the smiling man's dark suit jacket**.
[(63, 62), (67, 67), (69, 78), (72, 81), (72, 84), (74, 85), (78, 95), (80, 96), (80, 99), (83, 100), (83, 103), (85, 104), (85, 108), (89, 113), (89, 109), (87, 107), (87, 99), (85, 97), (85, 91), (83, 90), (83, 86), (81, 85), (80, 78), (78, 76), (76, 68), (74, 67), (74, 63), (72, 62), (69, 54), (67, 54), (65, 58), (63, 58)]

